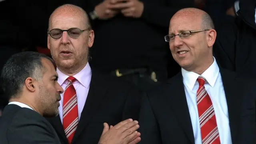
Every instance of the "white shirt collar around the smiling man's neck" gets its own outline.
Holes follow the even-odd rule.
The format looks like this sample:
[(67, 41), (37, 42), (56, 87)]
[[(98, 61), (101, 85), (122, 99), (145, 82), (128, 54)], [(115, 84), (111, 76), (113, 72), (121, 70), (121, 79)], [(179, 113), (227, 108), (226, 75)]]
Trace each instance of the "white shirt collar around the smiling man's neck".
[[(181, 72), (184, 84), (186, 84), (186, 86), (188, 86), (190, 90), (193, 90), (194, 85), (196, 84), (196, 80), (200, 75), (195, 72), (189, 72), (187, 70), (184, 70), (183, 68), (181, 69)], [(214, 58), (214, 62), (211, 64), (209, 68), (206, 69), (206, 71), (203, 72), (201, 76), (203, 76), (206, 79), (206, 83), (209, 83), (210, 86), (213, 87), (218, 78), (219, 72), (220, 69)]]

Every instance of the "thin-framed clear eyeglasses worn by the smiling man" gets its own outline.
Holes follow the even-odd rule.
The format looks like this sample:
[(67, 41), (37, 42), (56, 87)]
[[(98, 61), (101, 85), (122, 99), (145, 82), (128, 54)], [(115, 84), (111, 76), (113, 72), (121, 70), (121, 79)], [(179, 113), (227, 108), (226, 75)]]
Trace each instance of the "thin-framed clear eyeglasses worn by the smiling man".
[(205, 29), (205, 30), (186, 30), (186, 31), (182, 31), (179, 34), (168, 34), (166, 36), (164, 36), (164, 40), (166, 42), (172, 42), (175, 39), (175, 36), (179, 36), (181, 39), (184, 38), (188, 38), (191, 36), (191, 34), (196, 33), (196, 32), (203, 32), (203, 31), (208, 31), (209, 29)]

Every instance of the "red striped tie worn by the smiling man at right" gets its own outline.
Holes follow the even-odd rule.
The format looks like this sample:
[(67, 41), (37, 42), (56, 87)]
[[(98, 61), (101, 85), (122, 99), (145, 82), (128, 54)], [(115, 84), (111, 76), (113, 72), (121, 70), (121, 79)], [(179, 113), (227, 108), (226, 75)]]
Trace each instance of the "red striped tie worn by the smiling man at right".
[(214, 108), (210, 96), (205, 90), (205, 79), (198, 77), (199, 88), (196, 93), (202, 144), (220, 144)]

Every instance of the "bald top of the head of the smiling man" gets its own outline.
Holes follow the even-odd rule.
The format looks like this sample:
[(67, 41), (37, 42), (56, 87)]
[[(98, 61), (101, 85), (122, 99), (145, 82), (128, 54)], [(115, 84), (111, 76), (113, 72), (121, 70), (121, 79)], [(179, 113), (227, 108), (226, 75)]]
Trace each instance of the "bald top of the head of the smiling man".
[(188, 18), (191, 22), (200, 21), (202, 29), (214, 29), (214, 23), (209, 14), (197, 8), (184, 8), (179, 10), (172, 16), (170, 23), (178, 18)]

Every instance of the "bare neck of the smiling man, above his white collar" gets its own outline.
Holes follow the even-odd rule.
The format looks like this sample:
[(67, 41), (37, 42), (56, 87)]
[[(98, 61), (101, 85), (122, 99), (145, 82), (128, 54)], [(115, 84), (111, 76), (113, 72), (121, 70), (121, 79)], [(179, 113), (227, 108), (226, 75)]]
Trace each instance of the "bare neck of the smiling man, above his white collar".
[(199, 75), (202, 75), (214, 62), (213, 56), (211, 58), (208, 58), (207, 60), (202, 61), (199, 66), (195, 66), (195, 68), (184, 68), (185, 70), (189, 72), (194, 72)]

